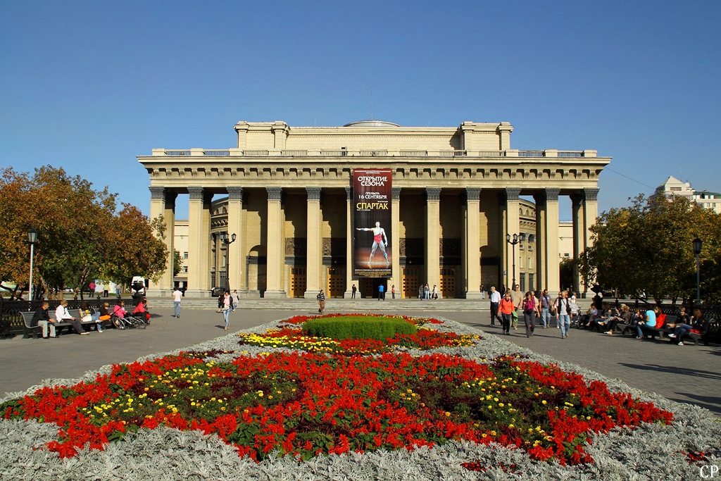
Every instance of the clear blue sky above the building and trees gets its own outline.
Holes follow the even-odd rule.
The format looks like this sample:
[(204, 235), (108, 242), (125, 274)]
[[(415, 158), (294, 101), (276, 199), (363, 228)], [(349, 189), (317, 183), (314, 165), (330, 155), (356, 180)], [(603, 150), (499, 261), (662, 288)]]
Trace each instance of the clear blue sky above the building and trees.
[(362, 120), (372, 89), (373, 118), (508, 120), (514, 149), (612, 156), (601, 211), (668, 175), (720, 192), (720, 19), (710, 0), (5, 0), (0, 166), (149, 213), (137, 155), (227, 149), (238, 120)]

